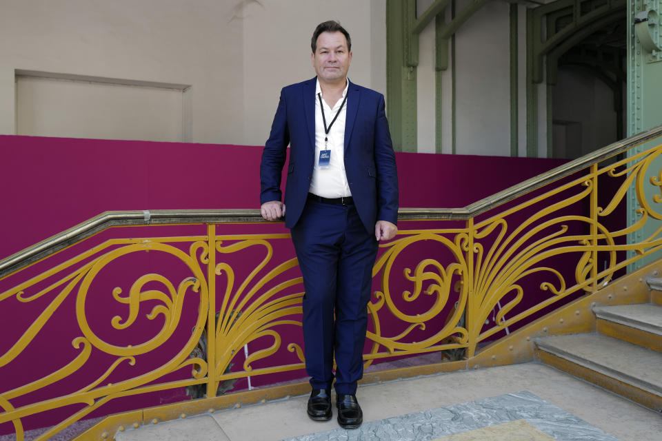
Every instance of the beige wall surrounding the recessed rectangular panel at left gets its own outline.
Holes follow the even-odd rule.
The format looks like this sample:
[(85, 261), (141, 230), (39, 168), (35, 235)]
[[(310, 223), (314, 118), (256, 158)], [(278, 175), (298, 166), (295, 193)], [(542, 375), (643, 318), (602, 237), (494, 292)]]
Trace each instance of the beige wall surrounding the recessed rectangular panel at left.
[(243, 35), (239, 21), (228, 22), (231, 9), (215, 0), (3, 1), (0, 132), (14, 132), (13, 76), (21, 69), (190, 84), (192, 140), (220, 142), (225, 132), (228, 142), (241, 141), (225, 130), (243, 118), (243, 75), (234, 68), (243, 51), (228, 43)]

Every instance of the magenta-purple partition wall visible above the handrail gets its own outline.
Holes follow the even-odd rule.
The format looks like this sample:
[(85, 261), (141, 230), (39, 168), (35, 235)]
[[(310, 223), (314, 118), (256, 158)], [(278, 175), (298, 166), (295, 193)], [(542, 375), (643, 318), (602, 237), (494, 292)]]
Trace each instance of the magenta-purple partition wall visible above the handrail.
[[(0, 258), (101, 212), (258, 208), (262, 147), (0, 135)], [(401, 207), (464, 207), (565, 162), (397, 153)]]

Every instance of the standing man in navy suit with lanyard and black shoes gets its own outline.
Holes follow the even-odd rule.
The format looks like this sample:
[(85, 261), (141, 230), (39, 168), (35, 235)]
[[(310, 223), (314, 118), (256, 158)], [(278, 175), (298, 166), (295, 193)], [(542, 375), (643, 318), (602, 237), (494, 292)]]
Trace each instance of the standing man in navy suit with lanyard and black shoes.
[(356, 428), (363, 421), (356, 391), (372, 267), (379, 240), (397, 232), (398, 179), (383, 95), (347, 79), (350, 35), (325, 21), (314, 30), (311, 48), (317, 77), (281, 90), (262, 154), (261, 212), (267, 220), (285, 216), (303, 274), (308, 416), (331, 418), (335, 378), (338, 422)]

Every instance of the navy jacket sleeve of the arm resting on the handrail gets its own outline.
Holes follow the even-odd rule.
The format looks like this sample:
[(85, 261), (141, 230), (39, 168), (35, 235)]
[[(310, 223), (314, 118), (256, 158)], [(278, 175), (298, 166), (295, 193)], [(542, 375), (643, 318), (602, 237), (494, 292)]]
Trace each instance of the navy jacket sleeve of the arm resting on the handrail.
[(264, 145), (260, 164), (260, 203), (281, 201), (281, 176), (287, 148), (290, 143), (288, 129), (287, 106), (285, 92), (281, 90), (281, 98), (271, 125), (269, 139)]

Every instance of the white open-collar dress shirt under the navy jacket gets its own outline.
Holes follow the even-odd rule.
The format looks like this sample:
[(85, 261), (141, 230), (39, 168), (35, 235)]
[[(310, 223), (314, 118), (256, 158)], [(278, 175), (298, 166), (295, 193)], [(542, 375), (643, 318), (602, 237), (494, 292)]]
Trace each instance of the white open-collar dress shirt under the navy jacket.
[[(319, 86), (319, 80), (317, 80), (317, 87), (315, 88), (315, 164), (312, 170), (309, 191), (323, 198), (352, 196), (350, 186), (347, 183), (347, 176), (345, 175), (345, 117), (347, 116), (347, 101), (345, 101), (345, 105), (343, 105), (343, 108), (338, 114), (340, 105), (343, 103), (345, 96), (347, 96), (349, 85), (350, 81), (347, 80), (347, 85), (345, 85), (345, 90), (343, 90), (343, 96), (335, 103), (333, 108), (329, 107), (326, 101), (324, 101), (323, 94), (321, 95), (322, 105), (320, 106), (319, 98), (317, 97), (317, 94), (322, 92)], [(324, 130), (321, 113), (322, 107), (324, 109), (327, 127), (333, 121), (336, 114), (338, 114), (338, 118), (331, 126), (329, 134), (326, 134)], [(319, 152), (324, 150), (324, 139), (327, 137), (328, 143), (326, 143), (326, 147), (331, 151), (331, 161), (328, 167), (320, 168)]]

